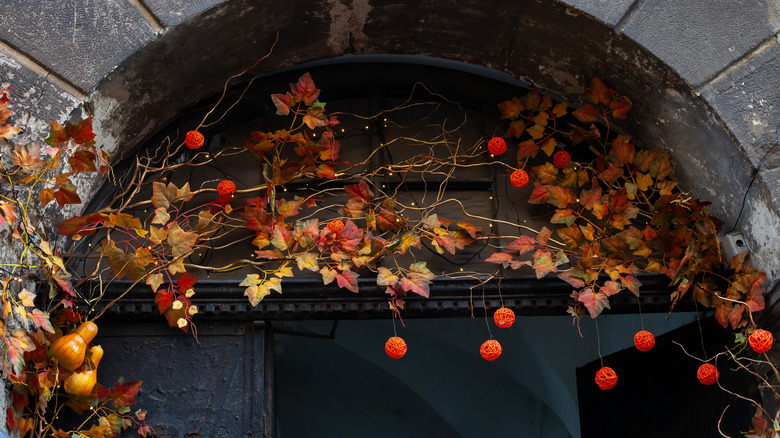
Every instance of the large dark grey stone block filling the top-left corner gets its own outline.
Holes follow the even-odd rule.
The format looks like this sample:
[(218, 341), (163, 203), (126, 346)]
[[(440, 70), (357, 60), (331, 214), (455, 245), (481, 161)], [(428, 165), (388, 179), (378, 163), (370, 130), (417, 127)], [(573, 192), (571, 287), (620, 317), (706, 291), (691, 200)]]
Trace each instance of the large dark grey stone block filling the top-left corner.
[(3, 38), (90, 91), (154, 31), (126, 0), (0, 2)]

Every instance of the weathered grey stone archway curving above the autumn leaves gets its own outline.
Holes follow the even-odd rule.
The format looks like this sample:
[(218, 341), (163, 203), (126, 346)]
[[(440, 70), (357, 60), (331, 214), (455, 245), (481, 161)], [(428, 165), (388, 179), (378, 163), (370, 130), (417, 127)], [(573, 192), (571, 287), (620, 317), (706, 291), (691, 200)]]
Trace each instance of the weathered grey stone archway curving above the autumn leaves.
[[(93, 114), (115, 157), (269, 51), (234, 81), (377, 54), (482, 66), (562, 96), (598, 76), (634, 101), (639, 117), (623, 128), (668, 149), (683, 186), (712, 200), (729, 228), (775, 140), (780, 7), (771, 2), (72, 0), (9, 1), (1, 12), (0, 75), (15, 86), (20, 117), (43, 130), (72, 111)], [(762, 163), (737, 224), (772, 279), (775, 161)]]

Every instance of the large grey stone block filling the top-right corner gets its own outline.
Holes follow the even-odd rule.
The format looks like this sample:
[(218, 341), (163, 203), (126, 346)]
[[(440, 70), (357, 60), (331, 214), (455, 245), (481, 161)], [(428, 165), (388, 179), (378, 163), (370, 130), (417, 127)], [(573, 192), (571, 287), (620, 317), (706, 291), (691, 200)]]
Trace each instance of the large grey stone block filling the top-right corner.
[(770, 0), (647, 0), (623, 32), (696, 86), (771, 37), (779, 20)]

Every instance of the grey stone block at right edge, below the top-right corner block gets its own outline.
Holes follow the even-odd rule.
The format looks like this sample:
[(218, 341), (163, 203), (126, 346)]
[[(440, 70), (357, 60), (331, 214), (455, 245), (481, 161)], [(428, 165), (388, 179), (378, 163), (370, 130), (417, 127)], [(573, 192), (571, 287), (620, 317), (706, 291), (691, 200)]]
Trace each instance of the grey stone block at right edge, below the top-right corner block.
[(780, 167), (780, 147), (767, 151), (777, 143), (780, 123), (780, 44), (766, 50), (730, 72), (727, 76), (701, 90), (701, 96), (720, 115), (723, 122), (742, 144), (753, 163), (765, 170)]

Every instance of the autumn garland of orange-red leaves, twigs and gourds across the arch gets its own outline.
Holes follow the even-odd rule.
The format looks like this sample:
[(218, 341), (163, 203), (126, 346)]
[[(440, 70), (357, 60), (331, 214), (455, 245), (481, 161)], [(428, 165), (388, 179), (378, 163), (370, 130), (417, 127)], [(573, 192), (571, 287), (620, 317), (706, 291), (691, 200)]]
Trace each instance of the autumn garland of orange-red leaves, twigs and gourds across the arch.
[[(401, 314), (404, 297), (428, 297), (437, 276), (487, 282), (527, 270), (571, 285), (568, 311), (579, 321), (596, 318), (617, 293), (639, 297), (636, 274), (655, 272), (669, 278), (673, 306), (693, 299), (714, 308), (717, 321), (740, 330), (743, 342), (750, 337), (751, 345), (763, 332), (752, 314), (764, 308), (765, 274), (744, 254), (722, 259), (721, 223), (709, 214), (708, 203), (677, 187), (665, 151), (639, 149), (612, 128), (615, 119), (628, 117), (631, 101), (600, 80), (593, 79), (582, 107), (571, 110), (567, 102), (532, 89), (498, 103), (502, 122), (495, 137), (470, 146), (446, 135), (418, 140), (418, 153), (378, 166), (369, 164), (393, 140), (348, 162), (336, 127), (350, 115), (327, 115), (319, 97), (306, 73), (290, 91), (271, 96), (286, 128), (248, 133), (243, 145), (212, 154), (202, 150), (198, 129), (204, 119), (183, 141), (139, 154), (127, 173), (114, 175), (108, 154), (95, 144), (91, 119), (52, 122), (45, 146), (15, 144), (20, 129), (7, 123), (12, 113), (3, 90), (0, 137), (10, 153), (2, 156), (0, 226), (14, 252), (0, 266), (1, 335), (3, 370), (13, 385), (12, 428), (31, 437), (112, 437), (130, 427), (154, 435), (146, 412), (130, 409), (140, 381), (95, 383), (102, 349), (88, 348), (94, 322), (143, 287), (154, 293), (171, 327), (195, 332), (198, 308), (191, 299), (204, 273), (241, 272), (252, 306), (271, 292), (282, 293), (285, 278), (305, 271), (355, 293), (358, 278), (375, 278)], [(254, 160), (256, 183), (238, 188), (230, 179), (209, 180), (193, 187), (179, 181), (182, 169), (229, 159)], [(458, 172), (475, 168), (497, 175), (496, 184), (509, 181), (518, 191), (511, 196), (530, 190), (527, 202), (545, 211), (549, 227), (475, 214), (448, 196), (447, 184)], [(74, 181), (82, 173), (114, 183), (114, 196), (96, 211), (65, 218), (58, 225), (61, 236), (51, 235), (40, 225), (43, 211), (81, 203)], [(398, 179), (395, 186), (377, 183), (388, 175)], [(437, 190), (423, 202), (399, 196), (399, 187), (415, 179), (434, 181)], [(288, 192), (292, 185), (305, 190)], [(444, 211), (456, 216), (445, 218)], [(499, 222), (510, 231), (476, 225)], [(70, 243), (63, 245), (62, 236)], [(83, 258), (73, 251), (79, 241), (95, 243), (95, 257), (81, 275), (72, 269), (73, 260)], [(230, 249), (246, 242), (252, 257), (231, 259)], [(415, 256), (424, 248), (456, 254), (475, 245), (490, 248), (485, 261), (493, 270), (434, 273)], [(202, 251), (222, 254), (221, 262), (196, 261)], [(95, 310), (115, 280), (131, 285)], [(83, 345), (67, 349), (65, 338), (81, 338)], [(405, 345), (397, 348), (388, 354), (403, 356)], [(490, 348), (486, 358), (497, 358), (501, 347)], [(757, 417), (773, 418), (755, 403)], [(66, 407), (84, 414), (83, 423), (63, 429), (55, 419)], [(756, 436), (769, 433), (766, 424), (760, 426)]]

